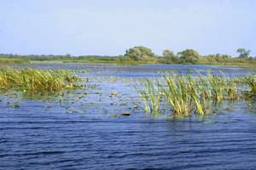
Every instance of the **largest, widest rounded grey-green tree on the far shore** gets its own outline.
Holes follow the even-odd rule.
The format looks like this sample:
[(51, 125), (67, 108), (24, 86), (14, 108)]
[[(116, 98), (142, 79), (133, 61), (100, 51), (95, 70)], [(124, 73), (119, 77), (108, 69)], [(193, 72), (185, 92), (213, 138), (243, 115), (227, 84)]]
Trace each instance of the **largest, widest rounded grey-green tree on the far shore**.
[(137, 46), (126, 50), (125, 57), (132, 60), (150, 60), (154, 57), (154, 53), (152, 53), (150, 48)]

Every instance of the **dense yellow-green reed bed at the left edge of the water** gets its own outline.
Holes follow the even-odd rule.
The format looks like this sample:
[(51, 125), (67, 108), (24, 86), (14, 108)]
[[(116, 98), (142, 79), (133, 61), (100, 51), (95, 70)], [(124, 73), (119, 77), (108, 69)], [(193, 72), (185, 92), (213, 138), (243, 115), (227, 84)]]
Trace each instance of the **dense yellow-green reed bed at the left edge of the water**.
[(0, 88), (15, 88), (27, 93), (54, 93), (66, 88), (79, 88), (79, 77), (69, 71), (37, 69), (0, 69)]

